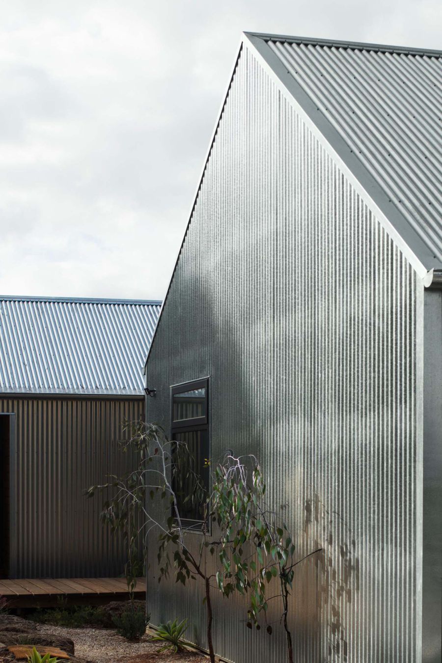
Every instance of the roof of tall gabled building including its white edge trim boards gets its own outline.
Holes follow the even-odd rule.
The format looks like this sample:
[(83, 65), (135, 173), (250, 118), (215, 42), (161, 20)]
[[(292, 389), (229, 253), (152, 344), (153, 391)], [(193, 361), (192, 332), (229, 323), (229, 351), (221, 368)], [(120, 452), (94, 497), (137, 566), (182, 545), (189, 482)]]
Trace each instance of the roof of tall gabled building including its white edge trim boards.
[(188, 227), (242, 48), (431, 284), (442, 268), (442, 51), (245, 32)]

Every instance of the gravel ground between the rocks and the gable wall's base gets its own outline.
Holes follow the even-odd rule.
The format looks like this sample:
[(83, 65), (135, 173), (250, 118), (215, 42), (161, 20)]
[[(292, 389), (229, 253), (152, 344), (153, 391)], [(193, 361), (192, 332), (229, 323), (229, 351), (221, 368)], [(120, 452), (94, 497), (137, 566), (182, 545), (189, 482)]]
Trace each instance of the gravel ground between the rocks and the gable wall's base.
[(74, 640), (75, 655), (93, 663), (207, 663), (195, 652), (171, 654), (162, 652), (158, 642), (149, 642), (145, 635), (139, 642), (129, 642), (111, 629), (67, 629), (50, 624), (37, 624), (40, 633), (54, 633)]

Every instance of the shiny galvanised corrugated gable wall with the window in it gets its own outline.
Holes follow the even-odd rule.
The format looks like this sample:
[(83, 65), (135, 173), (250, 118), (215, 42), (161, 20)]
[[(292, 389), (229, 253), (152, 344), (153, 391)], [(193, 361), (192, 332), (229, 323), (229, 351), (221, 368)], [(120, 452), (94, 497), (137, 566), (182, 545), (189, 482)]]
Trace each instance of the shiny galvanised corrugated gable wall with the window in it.
[[(257, 453), (301, 558), (297, 663), (414, 663), (420, 648), (417, 440), (421, 286), (317, 139), (243, 49), (147, 367), (148, 418), (210, 376), (211, 453)], [(195, 542), (197, 542), (197, 535)], [(148, 584), (153, 621), (202, 589)], [(217, 597), (217, 650), (285, 659)], [(229, 607), (230, 606), (230, 607)]]

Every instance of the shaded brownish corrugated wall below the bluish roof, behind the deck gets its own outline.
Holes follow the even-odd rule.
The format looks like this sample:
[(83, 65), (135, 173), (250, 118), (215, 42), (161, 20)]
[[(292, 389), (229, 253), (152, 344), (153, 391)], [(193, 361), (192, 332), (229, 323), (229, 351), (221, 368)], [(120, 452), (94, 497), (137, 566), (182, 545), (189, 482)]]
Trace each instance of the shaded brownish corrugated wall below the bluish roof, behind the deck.
[(15, 412), (13, 577), (121, 575), (125, 545), (99, 520), (102, 497), (83, 491), (130, 468), (123, 420), (139, 420), (142, 400), (0, 397)]

